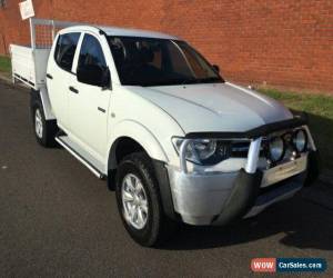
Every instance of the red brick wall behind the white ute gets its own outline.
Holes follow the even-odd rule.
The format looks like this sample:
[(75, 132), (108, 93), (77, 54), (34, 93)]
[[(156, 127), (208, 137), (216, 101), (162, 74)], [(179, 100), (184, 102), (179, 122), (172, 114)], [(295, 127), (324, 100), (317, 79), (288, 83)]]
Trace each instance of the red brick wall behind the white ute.
[[(18, 0), (0, 10), (0, 53), (28, 41)], [(37, 17), (178, 34), (226, 79), (333, 93), (332, 0), (33, 0)]]

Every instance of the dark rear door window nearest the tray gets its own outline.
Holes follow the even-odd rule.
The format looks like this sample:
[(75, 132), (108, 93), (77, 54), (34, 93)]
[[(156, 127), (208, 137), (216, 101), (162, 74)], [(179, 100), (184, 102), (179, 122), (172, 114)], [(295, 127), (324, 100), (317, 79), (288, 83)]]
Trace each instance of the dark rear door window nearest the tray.
[(60, 68), (71, 71), (80, 33), (64, 33), (57, 41), (54, 60)]

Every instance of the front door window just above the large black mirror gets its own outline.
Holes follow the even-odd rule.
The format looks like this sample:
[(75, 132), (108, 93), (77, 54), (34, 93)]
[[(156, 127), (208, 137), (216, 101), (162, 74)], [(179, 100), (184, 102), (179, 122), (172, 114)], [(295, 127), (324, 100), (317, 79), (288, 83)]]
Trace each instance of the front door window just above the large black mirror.
[(101, 69), (107, 68), (103, 50), (97, 38), (91, 34), (84, 34), (80, 50), (78, 69)]

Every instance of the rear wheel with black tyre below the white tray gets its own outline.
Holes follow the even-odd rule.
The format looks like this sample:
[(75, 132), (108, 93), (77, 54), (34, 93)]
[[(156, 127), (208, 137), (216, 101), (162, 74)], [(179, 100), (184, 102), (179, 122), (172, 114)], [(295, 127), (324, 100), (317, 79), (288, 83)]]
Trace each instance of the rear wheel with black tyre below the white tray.
[(47, 148), (56, 147), (56, 133), (58, 131), (58, 127), (56, 120), (46, 120), (44, 111), (42, 103), (40, 101), (34, 101), (31, 107), (32, 112), (32, 123), (33, 123), (33, 132), (37, 141)]

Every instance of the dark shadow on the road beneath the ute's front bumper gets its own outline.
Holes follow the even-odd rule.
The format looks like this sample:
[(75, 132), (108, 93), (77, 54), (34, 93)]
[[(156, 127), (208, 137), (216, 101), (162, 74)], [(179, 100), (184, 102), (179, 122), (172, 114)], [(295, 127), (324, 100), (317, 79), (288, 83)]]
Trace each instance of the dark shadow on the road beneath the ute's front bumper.
[(182, 226), (162, 247), (194, 250), (240, 245), (281, 234), (280, 242), (296, 248), (333, 250), (333, 211), (304, 200), (300, 195), (276, 203), (260, 216), (225, 227)]

